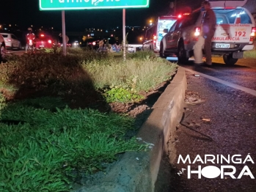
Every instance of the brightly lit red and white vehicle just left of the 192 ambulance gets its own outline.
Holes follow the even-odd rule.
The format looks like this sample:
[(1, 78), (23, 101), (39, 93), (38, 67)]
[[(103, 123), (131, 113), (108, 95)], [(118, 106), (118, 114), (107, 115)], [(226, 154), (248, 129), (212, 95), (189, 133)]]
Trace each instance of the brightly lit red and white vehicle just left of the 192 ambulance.
[(160, 50), (160, 41), (165, 35), (164, 29), (171, 28), (175, 21), (177, 21), (177, 16), (159, 17), (157, 23), (147, 29), (142, 50), (158, 52)]

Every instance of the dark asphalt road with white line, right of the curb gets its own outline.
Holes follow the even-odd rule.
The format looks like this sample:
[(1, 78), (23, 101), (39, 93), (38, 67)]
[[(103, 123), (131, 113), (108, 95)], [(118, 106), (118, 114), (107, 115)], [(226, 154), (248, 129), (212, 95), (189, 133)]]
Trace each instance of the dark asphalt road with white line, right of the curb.
[[(213, 58), (211, 68), (180, 66), (189, 70), (177, 156), (157, 191), (256, 191), (256, 59), (240, 59), (233, 67), (221, 57)], [(200, 166), (200, 174), (189, 171)]]

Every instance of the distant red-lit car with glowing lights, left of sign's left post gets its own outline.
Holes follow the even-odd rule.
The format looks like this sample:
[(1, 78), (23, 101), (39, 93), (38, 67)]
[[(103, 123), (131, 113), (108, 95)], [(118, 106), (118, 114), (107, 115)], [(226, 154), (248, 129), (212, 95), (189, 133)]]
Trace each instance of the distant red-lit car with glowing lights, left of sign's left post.
[(52, 48), (54, 43), (53, 38), (49, 34), (45, 34), (44, 32), (41, 32), (37, 34), (34, 44), (35, 48), (40, 49), (40, 48)]

